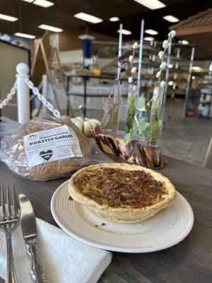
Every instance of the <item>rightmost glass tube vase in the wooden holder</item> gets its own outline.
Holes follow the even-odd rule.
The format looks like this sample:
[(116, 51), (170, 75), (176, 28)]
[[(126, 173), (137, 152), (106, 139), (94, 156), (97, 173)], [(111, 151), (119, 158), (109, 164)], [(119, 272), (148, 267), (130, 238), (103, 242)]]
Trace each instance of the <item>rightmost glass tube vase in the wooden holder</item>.
[(162, 121), (160, 120), (160, 113), (163, 103), (163, 91), (164, 88), (159, 89), (158, 87), (154, 88), (153, 91), (153, 100), (151, 104), (147, 137), (148, 144), (151, 144), (153, 146), (157, 144), (158, 132), (161, 127), (160, 123), (162, 123)]

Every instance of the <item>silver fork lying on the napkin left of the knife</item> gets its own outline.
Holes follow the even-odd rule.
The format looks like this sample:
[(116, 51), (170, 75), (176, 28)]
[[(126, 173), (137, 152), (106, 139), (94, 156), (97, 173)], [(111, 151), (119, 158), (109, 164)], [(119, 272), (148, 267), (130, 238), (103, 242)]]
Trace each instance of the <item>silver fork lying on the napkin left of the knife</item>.
[(16, 191), (12, 183), (12, 205), (8, 190), (8, 183), (6, 183), (6, 202), (4, 197), (3, 184), (1, 183), (1, 215), (0, 215), (0, 229), (4, 231), (6, 236), (6, 281), (5, 283), (18, 283), (16, 277), (16, 270), (13, 260), (13, 250), (11, 242), (11, 233), (13, 229), (18, 226), (19, 214), (18, 204), (16, 198)]

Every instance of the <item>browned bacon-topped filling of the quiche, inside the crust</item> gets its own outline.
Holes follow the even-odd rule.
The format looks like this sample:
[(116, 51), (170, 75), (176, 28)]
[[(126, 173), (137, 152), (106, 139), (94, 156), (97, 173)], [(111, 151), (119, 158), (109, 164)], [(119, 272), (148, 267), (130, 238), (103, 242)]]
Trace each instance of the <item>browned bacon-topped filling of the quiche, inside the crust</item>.
[(144, 171), (99, 168), (76, 181), (83, 195), (110, 207), (141, 208), (164, 200), (163, 183)]

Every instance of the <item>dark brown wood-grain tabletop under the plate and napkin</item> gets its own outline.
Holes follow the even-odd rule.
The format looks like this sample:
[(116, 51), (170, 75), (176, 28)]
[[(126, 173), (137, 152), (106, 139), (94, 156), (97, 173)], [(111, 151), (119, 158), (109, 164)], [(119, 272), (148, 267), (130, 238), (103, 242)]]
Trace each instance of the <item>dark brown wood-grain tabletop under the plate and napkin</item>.
[[(155, 253), (113, 253), (112, 264), (99, 283), (211, 282), (212, 171), (175, 158), (167, 158), (167, 161), (167, 165), (160, 172), (170, 178), (177, 190), (192, 205), (192, 232), (177, 246)], [(25, 180), (8, 170), (3, 163), (0, 163), (0, 172), (1, 182), (16, 183), (16, 190), (30, 198), (37, 217), (56, 225), (50, 211), (50, 201), (53, 192), (66, 179), (44, 183)]]

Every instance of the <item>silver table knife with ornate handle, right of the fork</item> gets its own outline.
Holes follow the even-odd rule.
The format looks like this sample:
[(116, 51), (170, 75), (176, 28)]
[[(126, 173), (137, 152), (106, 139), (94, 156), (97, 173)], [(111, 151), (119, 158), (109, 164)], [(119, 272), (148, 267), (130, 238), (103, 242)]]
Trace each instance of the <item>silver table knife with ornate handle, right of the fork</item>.
[(39, 257), (37, 228), (32, 204), (28, 197), (23, 194), (18, 195), (18, 198), (20, 202), (20, 226), (22, 228), (28, 256), (31, 260), (31, 277), (36, 283), (47, 283)]

